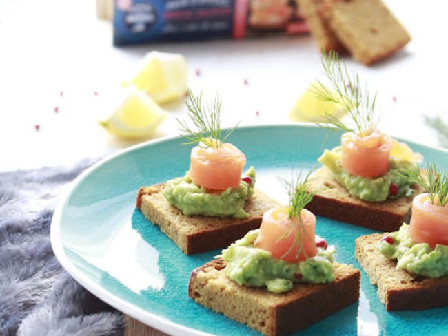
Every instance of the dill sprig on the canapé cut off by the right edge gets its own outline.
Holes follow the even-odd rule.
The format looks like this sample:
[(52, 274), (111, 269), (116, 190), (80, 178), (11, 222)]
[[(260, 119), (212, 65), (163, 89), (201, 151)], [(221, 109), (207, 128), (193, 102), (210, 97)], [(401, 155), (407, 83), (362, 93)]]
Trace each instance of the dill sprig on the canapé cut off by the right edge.
[(420, 185), (425, 193), (428, 193), (431, 204), (440, 205), (440, 207), (448, 204), (448, 173), (439, 171), (436, 163), (427, 164), (426, 176), (422, 175), (418, 165), (414, 169), (400, 172), (400, 176), (408, 182)]

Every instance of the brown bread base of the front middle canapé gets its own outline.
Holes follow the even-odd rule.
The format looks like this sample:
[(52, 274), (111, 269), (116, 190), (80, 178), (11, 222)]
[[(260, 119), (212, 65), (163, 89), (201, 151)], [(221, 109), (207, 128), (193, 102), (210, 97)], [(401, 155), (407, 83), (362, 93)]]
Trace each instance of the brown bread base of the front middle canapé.
[(239, 286), (225, 275), (226, 262), (212, 260), (194, 269), (188, 295), (198, 304), (269, 336), (286, 335), (358, 301), (360, 271), (335, 263), (336, 281), (294, 284), (287, 293)]

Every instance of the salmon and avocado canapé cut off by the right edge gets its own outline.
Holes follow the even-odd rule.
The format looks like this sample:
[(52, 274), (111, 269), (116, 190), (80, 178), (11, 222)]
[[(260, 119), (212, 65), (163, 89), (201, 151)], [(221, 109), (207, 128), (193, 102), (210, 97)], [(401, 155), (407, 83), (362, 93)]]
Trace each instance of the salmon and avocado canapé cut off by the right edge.
[(356, 239), (356, 258), (388, 311), (448, 305), (448, 174), (431, 164), (403, 174), (425, 193), (412, 202), (409, 224)]

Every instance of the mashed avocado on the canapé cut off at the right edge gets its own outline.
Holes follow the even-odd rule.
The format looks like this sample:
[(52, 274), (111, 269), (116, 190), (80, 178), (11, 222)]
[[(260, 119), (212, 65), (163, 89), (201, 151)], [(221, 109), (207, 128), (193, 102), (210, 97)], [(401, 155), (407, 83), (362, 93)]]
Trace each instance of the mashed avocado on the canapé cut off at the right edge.
[(437, 244), (434, 249), (427, 243), (416, 244), (407, 234), (407, 224), (399, 231), (389, 233), (391, 239), (381, 240), (378, 250), (386, 258), (397, 260), (397, 269), (425, 277), (443, 277), (448, 275), (448, 246)]

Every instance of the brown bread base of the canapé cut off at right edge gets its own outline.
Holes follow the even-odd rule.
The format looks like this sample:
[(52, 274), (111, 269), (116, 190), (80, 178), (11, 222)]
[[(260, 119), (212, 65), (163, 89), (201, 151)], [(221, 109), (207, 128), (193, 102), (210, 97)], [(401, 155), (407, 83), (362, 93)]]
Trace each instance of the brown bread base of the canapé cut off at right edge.
[(387, 233), (363, 235), (355, 240), (355, 256), (378, 286), (380, 301), (387, 311), (418, 311), (448, 306), (448, 277), (431, 279), (396, 269), (396, 260), (387, 259), (375, 245)]

